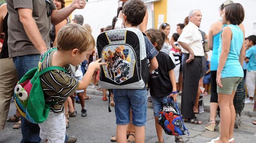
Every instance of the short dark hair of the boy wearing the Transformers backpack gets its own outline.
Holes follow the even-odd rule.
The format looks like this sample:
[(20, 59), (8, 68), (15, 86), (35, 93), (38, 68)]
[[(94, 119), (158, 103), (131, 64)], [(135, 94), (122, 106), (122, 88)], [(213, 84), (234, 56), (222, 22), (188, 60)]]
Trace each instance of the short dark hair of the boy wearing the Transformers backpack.
[(147, 6), (142, 0), (128, 0), (122, 9), (122, 13), (127, 16), (127, 21), (132, 24), (132, 26), (140, 25), (146, 12)]

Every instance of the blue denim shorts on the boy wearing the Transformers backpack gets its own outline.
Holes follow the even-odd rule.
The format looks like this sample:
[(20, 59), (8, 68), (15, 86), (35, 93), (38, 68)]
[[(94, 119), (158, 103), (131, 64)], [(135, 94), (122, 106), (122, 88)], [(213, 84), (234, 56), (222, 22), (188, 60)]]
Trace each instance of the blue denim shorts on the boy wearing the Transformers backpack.
[(147, 90), (114, 89), (114, 111), (116, 124), (130, 123), (130, 108), (132, 109), (132, 124), (145, 126), (147, 120)]

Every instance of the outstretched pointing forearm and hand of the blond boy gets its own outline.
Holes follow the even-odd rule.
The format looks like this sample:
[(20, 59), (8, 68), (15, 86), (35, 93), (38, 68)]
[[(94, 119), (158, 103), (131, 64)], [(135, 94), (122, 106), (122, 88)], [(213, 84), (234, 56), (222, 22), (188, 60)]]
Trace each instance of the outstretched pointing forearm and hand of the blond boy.
[(100, 61), (101, 61), (101, 58), (89, 64), (88, 70), (86, 71), (85, 75), (83, 75), (82, 80), (79, 81), (79, 86), (76, 90), (83, 90), (88, 87), (94, 71), (99, 70), (101, 65), (106, 64), (105, 62), (100, 62)]

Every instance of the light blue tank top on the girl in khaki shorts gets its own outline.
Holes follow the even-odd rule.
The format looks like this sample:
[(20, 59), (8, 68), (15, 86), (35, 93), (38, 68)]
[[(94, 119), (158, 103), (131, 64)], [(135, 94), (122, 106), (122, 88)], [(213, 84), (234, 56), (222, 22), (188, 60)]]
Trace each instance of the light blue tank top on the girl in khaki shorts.
[[(225, 77), (244, 77), (242, 66), (239, 62), (239, 55), (244, 41), (244, 34), (238, 25), (227, 25), (232, 31), (229, 55), (225, 66), (221, 72), (221, 78)], [(218, 63), (222, 51), (222, 39), (219, 38)]]

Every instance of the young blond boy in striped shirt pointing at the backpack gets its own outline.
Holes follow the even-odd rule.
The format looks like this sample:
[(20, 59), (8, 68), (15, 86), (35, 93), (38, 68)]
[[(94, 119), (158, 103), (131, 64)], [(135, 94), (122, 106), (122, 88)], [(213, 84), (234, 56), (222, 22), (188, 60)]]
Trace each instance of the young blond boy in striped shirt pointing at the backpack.
[(48, 118), (39, 124), (41, 139), (47, 139), (49, 143), (64, 143), (66, 122), (64, 116), (64, 102), (72, 96), (75, 90), (82, 90), (89, 85), (93, 72), (99, 69), (99, 60), (89, 64), (88, 70), (78, 81), (71, 76), (70, 64), (76, 66), (83, 62), (93, 47), (93, 36), (79, 24), (67, 24), (58, 32), (57, 50), (47, 55), (47, 51), (41, 55), (46, 58), (41, 63), (41, 70), (48, 66), (63, 67), (68, 73), (60, 70), (51, 70), (41, 76), (42, 88), (45, 92), (46, 102), (56, 102), (50, 106)]

